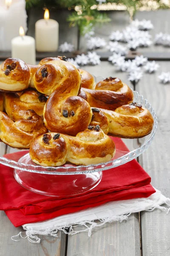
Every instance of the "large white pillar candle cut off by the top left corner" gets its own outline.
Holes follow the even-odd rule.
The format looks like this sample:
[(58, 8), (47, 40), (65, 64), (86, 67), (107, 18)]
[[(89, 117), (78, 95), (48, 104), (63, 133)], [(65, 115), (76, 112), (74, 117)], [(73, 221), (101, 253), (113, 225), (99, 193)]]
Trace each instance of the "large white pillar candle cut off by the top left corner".
[(0, 0), (0, 51), (11, 50), (20, 26), (27, 30), (25, 0)]

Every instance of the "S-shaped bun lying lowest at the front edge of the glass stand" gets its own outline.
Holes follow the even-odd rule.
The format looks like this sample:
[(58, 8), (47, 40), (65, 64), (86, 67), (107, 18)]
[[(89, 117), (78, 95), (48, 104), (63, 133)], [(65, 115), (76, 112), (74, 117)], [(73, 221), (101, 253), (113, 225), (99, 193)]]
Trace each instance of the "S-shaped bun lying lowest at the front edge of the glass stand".
[(104, 163), (116, 152), (115, 144), (99, 128), (89, 126), (76, 137), (47, 133), (37, 137), (30, 146), (32, 161), (41, 166), (61, 166), (66, 162), (75, 165)]

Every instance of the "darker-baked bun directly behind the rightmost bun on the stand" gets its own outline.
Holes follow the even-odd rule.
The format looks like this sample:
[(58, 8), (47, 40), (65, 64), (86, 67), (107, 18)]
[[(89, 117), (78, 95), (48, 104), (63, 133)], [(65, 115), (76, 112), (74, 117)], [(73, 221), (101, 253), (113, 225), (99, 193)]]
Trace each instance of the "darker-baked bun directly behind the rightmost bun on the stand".
[(118, 78), (108, 78), (96, 84), (95, 90), (82, 88), (79, 94), (91, 107), (115, 110), (133, 101), (133, 92)]

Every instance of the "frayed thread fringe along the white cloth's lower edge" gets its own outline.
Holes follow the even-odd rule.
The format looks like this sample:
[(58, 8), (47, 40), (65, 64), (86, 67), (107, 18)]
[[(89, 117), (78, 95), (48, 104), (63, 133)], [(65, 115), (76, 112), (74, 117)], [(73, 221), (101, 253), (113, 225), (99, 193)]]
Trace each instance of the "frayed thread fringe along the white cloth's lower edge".
[[(84, 220), (84, 221), (74, 222), (71, 224), (62, 223), (60, 226), (57, 223), (55, 224), (55, 221), (53, 221), (52, 224), (48, 226), (48, 222), (50, 222), (50, 221), (44, 221), (44, 222), (40, 223), (40, 226), (39, 226), (40, 228), (38, 228), (38, 229), (36, 229), (36, 227), (34, 229), (34, 226), (37, 226), (38, 223), (32, 224), (32, 225), (25, 224), (25, 225), (23, 225), (23, 229), (26, 230), (26, 236), (23, 237), (22, 232), (20, 232), (16, 236), (12, 236), (11, 239), (14, 241), (20, 241), (20, 237), (21, 237), (23, 239), (27, 238), (28, 241), (30, 241), (32, 243), (40, 243), (41, 239), (37, 235), (51, 235), (51, 236), (57, 237), (58, 231), (62, 231), (63, 233), (68, 234), (68, 235), (75, 235), (77, 233), (88, 231), (88, 236), (91, 236), (92, 230), (94, 228), (101, 227), (106, 223), (112, 223), (113, 221), (122, 222), (124, 220), (127, 220), (127, 218), (134, 212), (140, 212), (143, 210), (151, 212), (154, 209), (160, 209), (162, 211), (167, 212), (167, 214), (168, 214), (170, 212), (170, 199), (165, 198), (163, 195), (161, 195), (161, 193), (158, 190), (156, 193), (157, 194), (159, 193), (159, 196), (161, 196), (162, 200), (160, 203), (166, 204), (167, 206), (169, 206), (168, 208), (164, 207), (164, 206), (160, 206), (160, 204), (158, 202), (152, 202), (152, 207), (149, 207), (149, 206), (145, 207), (145, 208), (144, 208), (144, 206), (141, 207), (141, 200), (140, 200), (141, 198), (140, 198), (139, 205), (138, 205), (137, 200), (135, 202), (133, 200), (133, 202), (136, 203), (135, 207), (133, 206), (133, 204), (131, 204), (131, 207), (130, 207), (130, 205), (128, 205), (128, 203), (124, 203), (124, 205), (118, 204), (120, 209), (124, 208), (125, 205), (128, 205), (128, 207), (126, 209), (126, 212), (128, 212), (128, 213), (126, 213), (126, 214), (112, 215), (112, 216), (110, 215), (109, 217), (106, 217), (106, 218), (95, 218), (94, 220)], [(150, 201), (149, 198), (148, 199), (143, 198), (143, 200)], [(132, 200), (128, 200), (128, 201), (132, 201)], [(123, 201), (121, 201), (121, 202), (123, 202)], [(111, 203), (114, 204), (116, 202), (110, 202), (109, 204), (111, 204)], [(118, 207), (118, 205), (116, 207)], [(97, 207), (97, 208), (99, 209), (100, 207)], [(105, 212), (107, 212), (107, 204), (105, 204), (105, 209), (106, 209)], [(103, 214), (103, 212), (102, 212), (102, 214)], [(113, 214), (113, 212), (112, 212), (112, 214)], [(96, 221), (100, 221), (100, 223), (97, 223)], [(76, 231), (75, 227), (77, 227), (77, 226), (82, 226), (82, 229)]]

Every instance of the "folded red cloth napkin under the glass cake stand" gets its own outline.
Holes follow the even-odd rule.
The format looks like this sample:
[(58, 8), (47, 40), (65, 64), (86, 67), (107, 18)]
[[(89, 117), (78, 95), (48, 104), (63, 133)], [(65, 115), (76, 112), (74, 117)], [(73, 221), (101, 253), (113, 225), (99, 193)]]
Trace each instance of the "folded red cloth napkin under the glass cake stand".
[[(128, 151), (121, 139), (113, 138), (113, 141), (116, 148)], [(24, 154), (26, 151), (19, 151), (7, 154), (6, 158), (18, 160)], [(0, 209), (4, 210), (14, 226), (18, 227), (109, 201), (146, 198), (155, 192), (150, 180), (150, 176), (139, 163), (132, 160), (125, 165), (103, 171), (101, 182), (91, 191), (70, 198), (55, 198), (24, 189), (14, 179), (13, 169), (0, 165)]]

